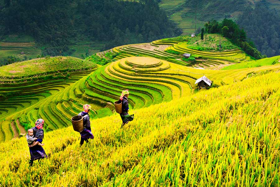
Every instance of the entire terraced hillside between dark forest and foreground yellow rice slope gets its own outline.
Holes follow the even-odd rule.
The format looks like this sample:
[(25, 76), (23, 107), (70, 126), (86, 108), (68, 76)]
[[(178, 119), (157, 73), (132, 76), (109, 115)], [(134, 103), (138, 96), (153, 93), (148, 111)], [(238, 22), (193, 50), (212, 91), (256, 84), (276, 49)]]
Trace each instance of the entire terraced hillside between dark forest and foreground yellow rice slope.
[[(215, 35), (210, 36), (215, 38)], [(213, 87), (219, 87), (261, 72), (277, 71), (280, 67), (275, 62), (280, 57), (275, 57), (263, 60), (266, 62), (263, 65), (268, 66), (221, 71), (221, 68), (236, 63), (245, 66), (255, 62), (234, 45), (229, 45), (232, 49), (221, 52), (217, 49), (199, 51), (189, 48), (195, 41), (195, 38), (180, 36), (115, 47), (92, 55), (87, 59), (89, 61), (54, 57), (2, 66), (2, 79), (10, 84), (3, 85), (0, 91), (4, 98), (8, 98), (0, 105), (0, 140), (18, 137), (39, 117), (44, 118), (46, 131), (68, 127), (71, 117), (80, 112), (83, 103), (92, 105), (91, 118), (112, 115), (113, 103), (124, 89), (129, 89), (131, 93), (130, 108), (139, 109), (192, 95), (198, 91), (194, 84), (196, 79), (203, 75), (212, 80)], [(213, 46), (215, 42), (206, 41), (208, 46)], [(223, 46), (228, 43), (227, 40), (222, 42)], [(208, 48), (207, 45), (203, 44)], [(184, 53), (195, 56), (195, 62), (184, 60)], [(97, 68), (94, 63), (98, 63), (98, 59), (108, 64)], [(83, 72), (71, 73), (68, 70), (70, 67), (71, 71), (77, 68)], [(14, 71), (15, 68), (22, 71)], [(32, 78), (28, 79), (28, 75)], [(37, 80), (41, 82), (26, 82)], [(19, 85), (14, 82), (26, 83)]]

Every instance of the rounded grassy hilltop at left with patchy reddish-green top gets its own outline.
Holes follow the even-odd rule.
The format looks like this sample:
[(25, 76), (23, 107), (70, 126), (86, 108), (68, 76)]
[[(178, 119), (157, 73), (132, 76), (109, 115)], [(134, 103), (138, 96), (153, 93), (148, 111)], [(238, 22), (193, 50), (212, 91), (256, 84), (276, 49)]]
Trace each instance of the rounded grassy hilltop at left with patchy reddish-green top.
[[(0, 67), (1, 84), (21, 84), (35, 80), (58, 79), (67, 77), (71, 71), (82, 71), (96, 68), (96, 65), (74, 57), (38, 58), (16, 62)], [(61, 77), (55, 77), (60, 75)], [(52, 78), (53, 76), (53, 78)]]

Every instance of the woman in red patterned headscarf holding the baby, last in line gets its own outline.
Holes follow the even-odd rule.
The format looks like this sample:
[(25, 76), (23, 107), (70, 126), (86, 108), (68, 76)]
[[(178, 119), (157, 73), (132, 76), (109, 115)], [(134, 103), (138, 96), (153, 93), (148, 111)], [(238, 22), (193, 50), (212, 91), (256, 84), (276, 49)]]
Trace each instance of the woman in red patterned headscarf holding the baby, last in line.
[[(42, 143), (43, 138), (44, 138), (44, 120), (43, 119), (37, 119), (35, 122), (35, 127), (33, 127), (33, 135), (35, 138), (37, 138), (36, 141), (39, 141)], [(41, 158), (47, 158), (47, 154), (45, 153), (45, 150), (42, 146), (35, 145), (29, 146), (29, 152), (30, 152), (30, 160), (29, 160), (29, 165), (33, 165), (33, 161), (35, 160), (40, 160)]]

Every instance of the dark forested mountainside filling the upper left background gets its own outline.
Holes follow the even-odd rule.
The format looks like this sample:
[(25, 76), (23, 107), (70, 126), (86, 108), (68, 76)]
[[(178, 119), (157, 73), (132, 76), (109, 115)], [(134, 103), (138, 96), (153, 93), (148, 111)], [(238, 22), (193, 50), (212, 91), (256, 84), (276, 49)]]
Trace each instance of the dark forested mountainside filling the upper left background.
[(0, 4), (4, 5), (0, 6), (0, 37), (31, 35), (47, 45), (43, 55), (71, 55), (68, 46), (78, 38), (106, 41), (104, 49), (109, 49), (180, 35), (153, 0), (4, 0)]

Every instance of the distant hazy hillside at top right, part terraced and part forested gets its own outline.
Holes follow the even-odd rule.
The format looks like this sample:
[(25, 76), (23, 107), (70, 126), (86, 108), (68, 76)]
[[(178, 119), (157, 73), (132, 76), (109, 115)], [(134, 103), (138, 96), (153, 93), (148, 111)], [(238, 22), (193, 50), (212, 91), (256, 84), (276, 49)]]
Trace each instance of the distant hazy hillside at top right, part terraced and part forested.
[(182, 29), (182, 35), (199, 33), (204, 24), (224, 18), (236, 21), (247, 33), (247, 40), (254, 42), (262, 55), (280, 54), (280, 2), (278, 0), (223, 0), (174, 1), (162, 0), (160, 7)]

